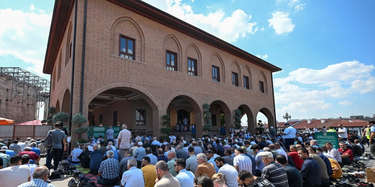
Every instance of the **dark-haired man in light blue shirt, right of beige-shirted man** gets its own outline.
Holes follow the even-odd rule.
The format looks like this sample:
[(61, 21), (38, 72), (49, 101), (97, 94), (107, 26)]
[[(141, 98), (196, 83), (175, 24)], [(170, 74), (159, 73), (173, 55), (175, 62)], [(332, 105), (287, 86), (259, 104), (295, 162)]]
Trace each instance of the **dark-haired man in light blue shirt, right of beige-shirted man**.
[(178, 175), (176, 179), (180, 183), (181, 187), (192, 187), (194, 186), (194, 174), (191, 171), (187, 171), (186, 162), (184, 159), (177, 159), (174, 162), (174, 170)]

